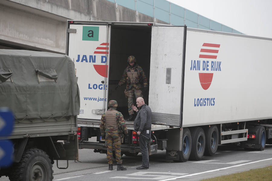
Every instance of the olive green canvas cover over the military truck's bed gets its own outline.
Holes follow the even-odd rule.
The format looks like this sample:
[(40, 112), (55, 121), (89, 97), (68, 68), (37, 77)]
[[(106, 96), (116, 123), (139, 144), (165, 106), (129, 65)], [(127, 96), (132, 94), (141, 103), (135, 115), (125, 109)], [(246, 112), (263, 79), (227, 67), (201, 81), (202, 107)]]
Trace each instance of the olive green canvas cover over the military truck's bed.
[(16, 120), (78, 115), (73, 61), (51, 52), (0, 49), (0, 107)]

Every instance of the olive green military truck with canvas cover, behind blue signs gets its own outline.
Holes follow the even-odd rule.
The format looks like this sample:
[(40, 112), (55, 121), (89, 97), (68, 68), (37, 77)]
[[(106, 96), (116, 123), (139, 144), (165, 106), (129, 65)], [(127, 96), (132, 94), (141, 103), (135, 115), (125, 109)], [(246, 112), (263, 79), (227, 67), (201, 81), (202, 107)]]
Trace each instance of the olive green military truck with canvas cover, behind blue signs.
[[(53, 179), (54, 160), (78, 157), (79, 89), (66, 55), (0, 49), (0, 107), (14, 115), (13, 163), (0, 169), (11, 181)], [(67, 168), (66, 167), (66, 168)]]

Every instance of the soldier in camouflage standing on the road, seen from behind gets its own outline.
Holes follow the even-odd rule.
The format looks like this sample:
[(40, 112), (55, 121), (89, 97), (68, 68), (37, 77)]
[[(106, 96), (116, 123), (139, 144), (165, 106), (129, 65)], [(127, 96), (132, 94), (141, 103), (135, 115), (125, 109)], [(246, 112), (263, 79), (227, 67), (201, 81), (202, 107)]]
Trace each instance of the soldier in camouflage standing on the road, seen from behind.
[(102, 114), (100, 121), (100, 132), (103, 139), (106, 141), (108, 170), (112, 170), (112, 147), (115, 147), (115, 156), (117, 162), (117, 170), (127, 170), (122, 166), (121, 159), (121, 133), (124, 132), (128, 136), (128, 129), (125, 119), (119, 111), (116, 110), (117, 101), (110, 100), (108, 102), (109, 109)]

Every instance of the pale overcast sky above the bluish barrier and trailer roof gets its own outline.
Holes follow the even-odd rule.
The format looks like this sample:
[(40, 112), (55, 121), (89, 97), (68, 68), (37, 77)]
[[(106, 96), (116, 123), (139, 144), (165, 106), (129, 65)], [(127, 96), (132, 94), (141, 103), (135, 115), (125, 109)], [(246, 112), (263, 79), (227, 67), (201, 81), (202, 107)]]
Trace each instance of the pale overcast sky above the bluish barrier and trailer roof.
[(272, 0), (167, 0), (241, 33), (272, 38)]

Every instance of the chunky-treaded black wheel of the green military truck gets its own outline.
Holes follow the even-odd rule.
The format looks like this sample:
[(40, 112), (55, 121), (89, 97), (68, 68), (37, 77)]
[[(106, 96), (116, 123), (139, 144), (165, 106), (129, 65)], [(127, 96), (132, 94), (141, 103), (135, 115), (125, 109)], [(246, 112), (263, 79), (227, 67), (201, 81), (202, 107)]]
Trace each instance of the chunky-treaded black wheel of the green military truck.
[(53, 179), (49, 156), (40, 149), (24, 151), (19, 163), (12, 166), (10, 181), (48, 181)]

